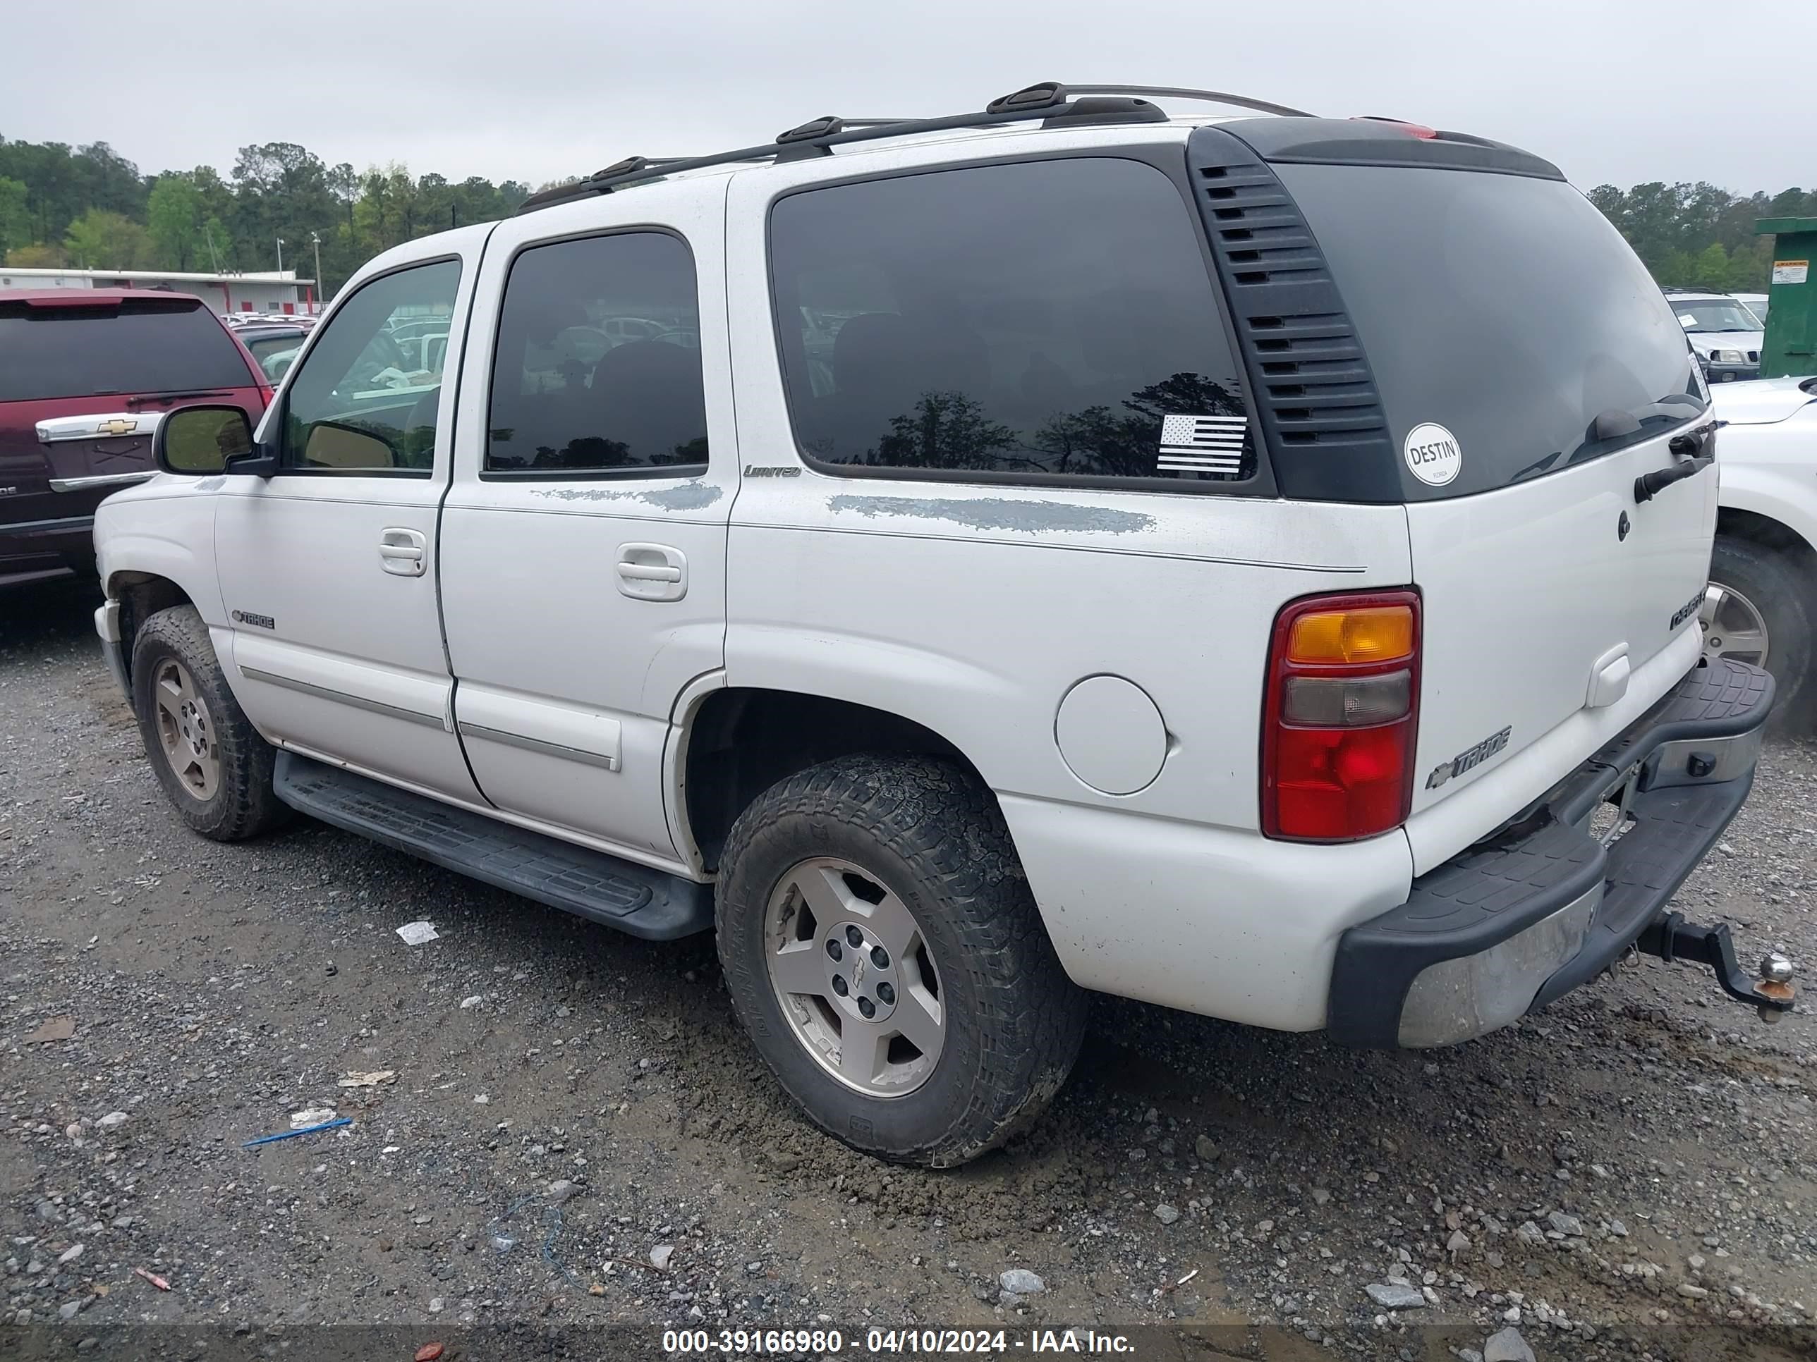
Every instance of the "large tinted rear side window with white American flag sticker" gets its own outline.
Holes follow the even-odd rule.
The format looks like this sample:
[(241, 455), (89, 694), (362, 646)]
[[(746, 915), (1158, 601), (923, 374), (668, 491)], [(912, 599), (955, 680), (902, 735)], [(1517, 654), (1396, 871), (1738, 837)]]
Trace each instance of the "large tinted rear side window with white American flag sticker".
[(792, 194), (772, 211), (770, 269), (810, 459), (1010, 479), (1252, 472), (1197, 225), (1152, 165), (1050, 160)]

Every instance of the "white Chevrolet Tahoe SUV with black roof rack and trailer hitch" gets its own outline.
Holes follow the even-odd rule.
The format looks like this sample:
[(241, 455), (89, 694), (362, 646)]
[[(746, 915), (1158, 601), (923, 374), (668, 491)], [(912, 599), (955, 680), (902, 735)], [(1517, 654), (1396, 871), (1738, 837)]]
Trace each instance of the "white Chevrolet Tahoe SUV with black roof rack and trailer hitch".
[(182, 817), (716, 930), (809, 1117), (934, 1166), (1088, 990), (1434, 1046), (1639, 944), (1790, 1006), (1666, 913), (1772, 681), (1703, 656), (1646, 271), (1512, 147), (1141, 94), (1190, 93), (816, 120), (372, 260), (256, 432), (174, 412), (100, 510)]

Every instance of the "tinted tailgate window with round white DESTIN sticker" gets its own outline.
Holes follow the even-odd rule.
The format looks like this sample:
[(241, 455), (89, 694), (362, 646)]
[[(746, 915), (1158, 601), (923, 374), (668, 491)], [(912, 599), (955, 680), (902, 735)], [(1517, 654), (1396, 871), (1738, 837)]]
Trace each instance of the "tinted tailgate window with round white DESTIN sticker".
[[(1457, 478), (1408, 498), (1555, 472), (1695, 418), (1695, 363), (1621, 234), (1557, 180), (1381, 165), (1276, 165), (1332, 265), (1403, 449), (1452, 432)], [(1633, 421), (1592, 423), (1604, 412)]]

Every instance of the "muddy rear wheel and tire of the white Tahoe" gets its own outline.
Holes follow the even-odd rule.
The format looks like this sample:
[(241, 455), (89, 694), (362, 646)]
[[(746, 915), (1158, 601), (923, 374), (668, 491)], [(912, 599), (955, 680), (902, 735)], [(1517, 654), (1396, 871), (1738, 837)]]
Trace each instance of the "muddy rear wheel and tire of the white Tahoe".
[(856, 755), (770, 786), (727, 839), (718, 932), (763, 1061), (865, 1153), (976, 1159), (1034, 1122), (1079, 1053), (1085, 993), (996, 799), (952, 765)]

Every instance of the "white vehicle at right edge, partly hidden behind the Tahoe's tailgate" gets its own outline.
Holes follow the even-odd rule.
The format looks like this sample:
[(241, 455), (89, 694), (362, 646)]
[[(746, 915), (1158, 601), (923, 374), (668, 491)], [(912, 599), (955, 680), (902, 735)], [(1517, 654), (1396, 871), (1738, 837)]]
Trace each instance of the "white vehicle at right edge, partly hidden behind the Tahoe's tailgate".
[(1704, 652), (1764, 666), (1777, 721), (1817, 719), (1817, 378), (1713, 387), (1723, 472)]

